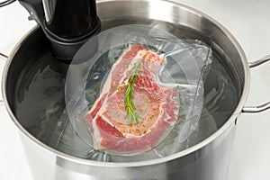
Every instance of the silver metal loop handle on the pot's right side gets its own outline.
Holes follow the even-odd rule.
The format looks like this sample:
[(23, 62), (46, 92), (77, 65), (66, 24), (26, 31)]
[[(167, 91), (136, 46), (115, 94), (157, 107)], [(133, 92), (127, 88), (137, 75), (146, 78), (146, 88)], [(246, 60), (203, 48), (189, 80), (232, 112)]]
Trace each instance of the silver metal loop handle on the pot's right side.
[[(266, 55), (263, 58), (259, 58), (254, 62), (250, 62), (248, 64), (248, 66), (250, 68), (257, 67), (259, 65), (266, 63), (267, 61), (270, 61), (270, 54)], [(253, 112), (264, 112), (267, 109), (270, 109), (270, 102), (264, 103), (264, 104), (261, 104), (258, 106), (245, 106), (245, 107), (243, 107), (242, 112), (252, 112), (252, 113)]]

